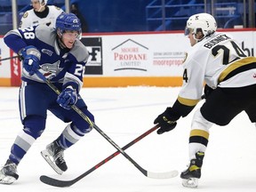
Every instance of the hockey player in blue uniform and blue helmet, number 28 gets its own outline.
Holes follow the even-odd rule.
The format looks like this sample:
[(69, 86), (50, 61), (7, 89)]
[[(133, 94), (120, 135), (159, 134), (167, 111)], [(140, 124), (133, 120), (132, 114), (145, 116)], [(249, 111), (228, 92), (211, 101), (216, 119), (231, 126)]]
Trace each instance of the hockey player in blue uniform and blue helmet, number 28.
[[(17, 165), (44, 132), (47, 110), (67, 123), (60, 136), (41, 152), (59, 174), (68, 169), (64, 150), (92, 130), (90, 124), (70, 109), (76, 104), (94, 122), (92, 113), (79, 95), (89, 56), (80, 36), (81, 24), (73, 13), (60, 14), (56, 28), (38, 25), (14, 29), (4, 36), (4, 43), (23, 60), (19, 97), (23, 129), (14, 140), (11, 154), (0, 171), (0, 183), (11, 184), (18, 180)], [(59, 96), (36, 76), (37, 71), (60, 89)]]

